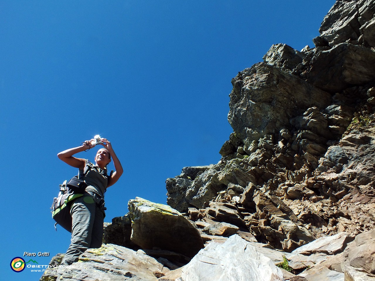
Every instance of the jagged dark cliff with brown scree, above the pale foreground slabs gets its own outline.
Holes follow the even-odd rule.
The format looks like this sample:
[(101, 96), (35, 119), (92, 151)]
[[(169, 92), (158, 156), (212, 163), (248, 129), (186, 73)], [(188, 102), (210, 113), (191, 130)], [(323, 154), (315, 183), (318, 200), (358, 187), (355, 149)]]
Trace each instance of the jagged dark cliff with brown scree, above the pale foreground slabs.
[[(222, 220), (285, 251), (372, 229), (374, 14), (373, 1), (336, 1), (315, 48), (276, 44), (239, 72), (222, 159), (167, 179), (168, 204), (197, 208), (197, 227)], [(220, 203), (236, 214), (208, 212)]]

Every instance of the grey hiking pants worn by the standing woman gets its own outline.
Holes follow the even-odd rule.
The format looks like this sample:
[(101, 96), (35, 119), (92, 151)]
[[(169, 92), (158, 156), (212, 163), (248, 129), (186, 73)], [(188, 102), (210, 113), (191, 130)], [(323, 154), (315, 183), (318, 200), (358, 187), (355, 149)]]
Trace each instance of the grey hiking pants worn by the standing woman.
[(93, 195), (85, 193), (71, 206), (72, 239), (61, 262), (71, 265), (88, 248), (100, 248), (103, 239), (104, 212), (96, 205)]

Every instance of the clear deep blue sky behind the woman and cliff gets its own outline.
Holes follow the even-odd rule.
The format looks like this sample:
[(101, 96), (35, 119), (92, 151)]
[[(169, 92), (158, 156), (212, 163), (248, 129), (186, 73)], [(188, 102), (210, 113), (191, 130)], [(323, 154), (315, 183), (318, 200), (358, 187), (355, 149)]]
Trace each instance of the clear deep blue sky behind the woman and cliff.
[(272, 44), (314, 46), (334, 2), (1, 1), (1, 279), (39, 280), (10, 260), (50, 252), (34, 257), (46, 265), (68, 248), (49, 207), (77, 170), (58, 152), (96, 134), (111, 141), (124, 174), (105, 221), (136, 196), (166, 203), (166, 178), (220, 160), (231, 78)]

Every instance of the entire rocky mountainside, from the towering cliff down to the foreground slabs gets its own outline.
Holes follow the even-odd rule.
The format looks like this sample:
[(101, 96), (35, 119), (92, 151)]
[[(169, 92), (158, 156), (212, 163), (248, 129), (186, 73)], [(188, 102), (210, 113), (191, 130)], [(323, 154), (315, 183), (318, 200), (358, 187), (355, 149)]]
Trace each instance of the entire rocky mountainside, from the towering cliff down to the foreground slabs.
[(338, 0), (315, 48), (239, 72), (219, 163), (130, 200), (62, 280), (375, 280), (374, 15)]

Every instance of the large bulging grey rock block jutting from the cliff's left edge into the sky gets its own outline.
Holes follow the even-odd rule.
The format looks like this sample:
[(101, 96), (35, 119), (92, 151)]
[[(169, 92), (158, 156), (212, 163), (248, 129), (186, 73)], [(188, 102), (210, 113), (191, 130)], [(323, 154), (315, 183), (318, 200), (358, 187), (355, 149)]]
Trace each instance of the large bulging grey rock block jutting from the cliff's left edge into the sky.
[(266, 63), (243, 70), (232, 84), (228, 120), (245, 152), (253, 141), (289, 129), (290, 120), (308, 108), (330, 103), (329, 93)]

